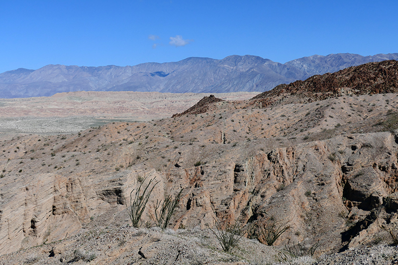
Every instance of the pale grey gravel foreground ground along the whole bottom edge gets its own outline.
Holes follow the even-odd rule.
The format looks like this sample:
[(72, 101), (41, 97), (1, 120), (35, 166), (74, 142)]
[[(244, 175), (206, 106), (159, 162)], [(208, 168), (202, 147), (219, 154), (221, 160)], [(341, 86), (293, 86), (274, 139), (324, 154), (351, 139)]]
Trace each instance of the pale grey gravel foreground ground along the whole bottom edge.
[[(377, 245), (344, 253), (290, 258), (282, 247), (242, 238), (232, 254), (221, 250), (211, 230), (160, 230), (157, 227), (95, 229), (0, 256), (1, 265), (394, 265), (398, 247)], [(283, 260), (283, 257), (288, 258)]]

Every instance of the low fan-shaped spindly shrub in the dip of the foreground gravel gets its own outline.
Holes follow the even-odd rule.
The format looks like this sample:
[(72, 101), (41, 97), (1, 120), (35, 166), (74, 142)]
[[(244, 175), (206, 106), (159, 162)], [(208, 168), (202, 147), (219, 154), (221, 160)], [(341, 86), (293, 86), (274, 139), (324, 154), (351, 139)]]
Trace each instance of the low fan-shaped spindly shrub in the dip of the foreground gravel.
[(223, 251), (231, 253), (238, 245), (239, 240), (243, 237), (240, 223), (235, 221), (222, 229), (222, 224), (215, 219), (215, 230), (210, 231), (215, 235), (217, 241), (220, 243)]

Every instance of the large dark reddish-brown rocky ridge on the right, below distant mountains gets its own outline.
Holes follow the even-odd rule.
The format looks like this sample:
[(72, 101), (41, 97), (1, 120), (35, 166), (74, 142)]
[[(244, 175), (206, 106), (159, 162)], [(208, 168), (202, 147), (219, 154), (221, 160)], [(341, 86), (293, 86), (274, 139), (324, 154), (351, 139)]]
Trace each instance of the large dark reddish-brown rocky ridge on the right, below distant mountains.
[(352, 94), (398, 92), (398, 61), (390, 60), (349, 67), (336, 73), (315, 75), (256, 95), (255, 104), (313, 102)]

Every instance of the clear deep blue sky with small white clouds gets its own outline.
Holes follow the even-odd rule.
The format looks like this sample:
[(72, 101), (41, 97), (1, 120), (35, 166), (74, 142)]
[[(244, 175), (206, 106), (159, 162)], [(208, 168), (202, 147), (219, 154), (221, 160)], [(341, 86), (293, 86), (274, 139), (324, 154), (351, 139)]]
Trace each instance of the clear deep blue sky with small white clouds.
[(398, 52), (397, 0), (2, 0), (0, 73)]

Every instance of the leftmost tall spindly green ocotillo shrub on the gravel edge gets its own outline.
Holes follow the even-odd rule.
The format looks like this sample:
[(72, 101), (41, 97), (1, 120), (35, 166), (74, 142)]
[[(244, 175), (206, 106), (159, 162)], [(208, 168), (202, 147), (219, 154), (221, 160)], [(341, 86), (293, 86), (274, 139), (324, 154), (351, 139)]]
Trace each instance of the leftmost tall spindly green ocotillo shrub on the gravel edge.
[(142, 213), (145, 210), (146, 204), (148, 203), (149, 197), (151, 196), (153, 188), (156, 186), (158, 182), (152, 185), (152, 188), (149, 189), (151, 183), (155, 180), (155, 177), (150, 179), (148, 184), (145, 186), (144, 190), (141, 193), (141, 188), (146, 178), (140, 183), (138, 188), (135, 190), (134, 198), (132, 196), (133, 190), (130, 192), (130, 205), (127, 206), (127, 212), (130, 217), (131, 223), (134, 227), (139, 226), (139, 222), (141, 220)]

